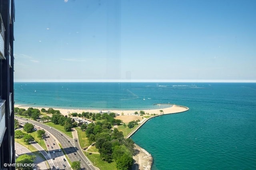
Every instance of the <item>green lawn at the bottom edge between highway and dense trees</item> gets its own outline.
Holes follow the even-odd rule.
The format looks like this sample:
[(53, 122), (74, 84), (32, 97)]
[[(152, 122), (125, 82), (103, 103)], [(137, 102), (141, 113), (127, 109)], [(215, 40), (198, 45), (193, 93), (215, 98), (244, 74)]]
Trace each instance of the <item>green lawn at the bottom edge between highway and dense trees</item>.
[(102, 161), (100, 159), (100, 154), (91, 154), (91, 155), (89, 155), (88, 153), (86, 153), (86, 155), (93, 164), (94, 164), (94, 161), (95, 161), (94, 166), (97, 166), (101, 170), (117, 170), (115, 161), (113, 161), (111, 163)]

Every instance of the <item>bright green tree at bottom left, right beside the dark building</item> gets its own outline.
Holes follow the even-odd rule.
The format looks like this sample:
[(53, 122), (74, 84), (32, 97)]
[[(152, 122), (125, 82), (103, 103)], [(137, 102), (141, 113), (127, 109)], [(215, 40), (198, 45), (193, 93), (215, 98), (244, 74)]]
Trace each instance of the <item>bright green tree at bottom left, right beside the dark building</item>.
[[(19, 164), (19, 165), (33, 164), (34, 160), (36, 160), (36, 156), (23, 154), (16, 159), (16, 165), (17, 164)], [(32, 170), (32, 169), (33, 169), (33, 167), (31, 167), (31, 166), (16, 166), (16, 170)]]

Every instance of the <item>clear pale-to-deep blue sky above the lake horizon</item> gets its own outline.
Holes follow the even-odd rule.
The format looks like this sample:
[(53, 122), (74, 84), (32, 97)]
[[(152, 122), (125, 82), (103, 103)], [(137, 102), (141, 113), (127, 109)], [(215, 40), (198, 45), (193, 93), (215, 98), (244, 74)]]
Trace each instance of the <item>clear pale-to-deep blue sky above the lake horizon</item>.
[(255, 0), (16, 0), (16, 82), (256, 82)]

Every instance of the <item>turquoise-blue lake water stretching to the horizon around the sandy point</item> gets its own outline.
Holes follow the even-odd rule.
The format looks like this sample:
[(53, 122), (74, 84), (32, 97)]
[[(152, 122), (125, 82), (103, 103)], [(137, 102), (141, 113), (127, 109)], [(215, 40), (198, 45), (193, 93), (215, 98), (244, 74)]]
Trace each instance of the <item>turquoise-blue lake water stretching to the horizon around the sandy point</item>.
[(152, 170), (256, 169), (255, 83), (15, 83), (14, 89), (15, 104), (32, 107), (187, 106), (151, 119), (132, 136), (152, 154)]

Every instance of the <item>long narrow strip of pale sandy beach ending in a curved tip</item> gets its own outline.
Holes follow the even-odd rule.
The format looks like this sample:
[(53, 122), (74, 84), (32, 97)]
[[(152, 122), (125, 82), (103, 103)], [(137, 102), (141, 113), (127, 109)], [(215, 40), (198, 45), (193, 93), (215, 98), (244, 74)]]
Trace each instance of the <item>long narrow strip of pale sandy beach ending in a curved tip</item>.
[[(14, 105), (14, 107), (17, 108), (24, 108), (24, 109), (28, 109), (30, 107), (32, 108), (37, 108), (39, 110), (42, 109), (42, 107), (33, 107), (33, 105), (30, 106), (20, 106), (20, 105)], [(44, 109), (48, 109), (48, 108), (44, 108)], [(100, 110), (90, 110), (90, 109), (67, 109), (67, 108), (53, 108), (54, 110), (60, 110), (60, 113), (63, 115), (68, 115), (70, 113), (76, 112), (76, 113), (82, 113), (82, 112), (92, 112), (92, 113), (99, 113)], [(187, 108), (185, 108), (184, 106), (178, 106), (178, 105), (172, 105), (172, 107), (169, 108), (161, 108), (161, 105), (159, 106), (159, 109), (151, 109), (151, 110), (143, 110), (145, 113), (148, 114), (160, 114), (159, 110), (163, 110), (164, 114), (170, 114), (170, 113), (178, 113), (178, 112), (184, 112)], [(110, 112), (113, 113), (117, 113), (122, 115), (122, 113), (124, 113), (124, 115), (134, 115), (134, 112), (140, 112), (140, 110), (109, 110)], [(108, 112), (108, 110), (102, 110), (102, 112)]]

